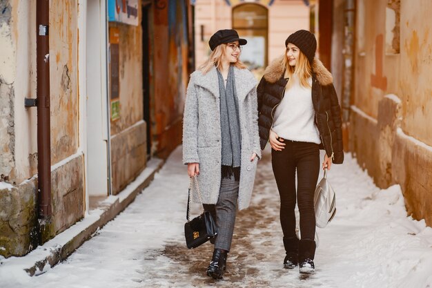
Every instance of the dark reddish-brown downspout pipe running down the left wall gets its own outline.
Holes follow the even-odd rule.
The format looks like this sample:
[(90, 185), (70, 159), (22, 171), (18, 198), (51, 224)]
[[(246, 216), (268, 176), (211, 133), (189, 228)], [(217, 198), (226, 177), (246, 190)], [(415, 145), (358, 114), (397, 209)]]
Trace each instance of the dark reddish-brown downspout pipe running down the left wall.
[(51, 143), (50, 143), (50, 1), (36, 2), (37, 67), (37, 174), (38, 215), (50, 218), (51, 209)]

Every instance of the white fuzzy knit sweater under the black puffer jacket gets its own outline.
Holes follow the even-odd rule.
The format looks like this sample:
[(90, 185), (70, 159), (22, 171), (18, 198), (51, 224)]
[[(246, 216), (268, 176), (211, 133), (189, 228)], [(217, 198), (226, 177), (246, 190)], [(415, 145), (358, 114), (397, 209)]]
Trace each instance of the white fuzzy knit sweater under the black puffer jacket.
[[(300, 86), (296, 77), (293, 85), (277, 106), (272, 130), (286, 140), (320, 144), (320, 132), (315, 125), (315, 111), (312, 103), (312, 89)], [(308, 79), (312, 86), (312, 79)]]

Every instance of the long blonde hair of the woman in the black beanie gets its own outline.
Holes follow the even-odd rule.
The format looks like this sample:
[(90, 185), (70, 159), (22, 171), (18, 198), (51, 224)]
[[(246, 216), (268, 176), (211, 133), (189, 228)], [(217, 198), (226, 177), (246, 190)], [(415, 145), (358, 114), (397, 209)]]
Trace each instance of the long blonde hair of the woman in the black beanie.
[[(300, 49), (299, 49), (300, 50)], [(300, 86), (310, 88), (311, 85), (308, 82), (309, 77), (312, 77), (312, 66), (309, 62), (308, 58), (303, 54), (302, 50), (300, 50), (299, 59), (297, 59), (297, 63), (295, 66), (290, 66), (288, 61), (288, 56), (286, 56), (286, 50), (285, 50), (285, 56), (282, 60), (282, 65), (284, 66), (284, 77), (293, 77), (296, 76), (300, 81)], [(286, 89), (291, 88), (293, 85), (293, 81), (288, 81), (286, 84)]]

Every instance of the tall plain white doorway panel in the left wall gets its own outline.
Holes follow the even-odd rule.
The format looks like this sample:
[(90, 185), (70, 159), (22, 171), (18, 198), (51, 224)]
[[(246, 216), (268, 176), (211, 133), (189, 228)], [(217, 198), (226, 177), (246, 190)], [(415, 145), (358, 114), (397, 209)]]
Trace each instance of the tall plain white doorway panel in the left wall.
[(90, 209), (110, 194), (108, 99), (106, 89), (106, 1), (87, 1), (86, 96), (87, 187)]

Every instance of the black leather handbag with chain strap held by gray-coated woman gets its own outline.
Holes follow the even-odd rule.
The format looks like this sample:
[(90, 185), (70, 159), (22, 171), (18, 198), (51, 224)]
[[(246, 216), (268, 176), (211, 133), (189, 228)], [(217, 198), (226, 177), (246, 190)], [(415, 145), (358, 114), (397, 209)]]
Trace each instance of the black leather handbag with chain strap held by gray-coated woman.
[(201, 192), (199, 191), (198, 181), (196, 177), (194, 177), (195, 185), (197, 187), (197, 192), (199, 195), (199, 200), (201, 202), (202, 213), (193, 218), (193, 220), (189, 220), (190, 213), (190, 190), (192, 187), (192, 178), (190, 178), (190, 185), (188, 191), (188, 209), (186, 211), (186, 220), (187, 222), (184, 224), (184, 236), (186, 238), (186, 246), (188, 249), (193, 249), (198, 247), (201, 244), (204, 244), (211, 238), (217, 236), (217, 228), (216, 223), (213, 220), (212, 215), (209, 211), (204, 211), (204, 206), (202, 204)]

